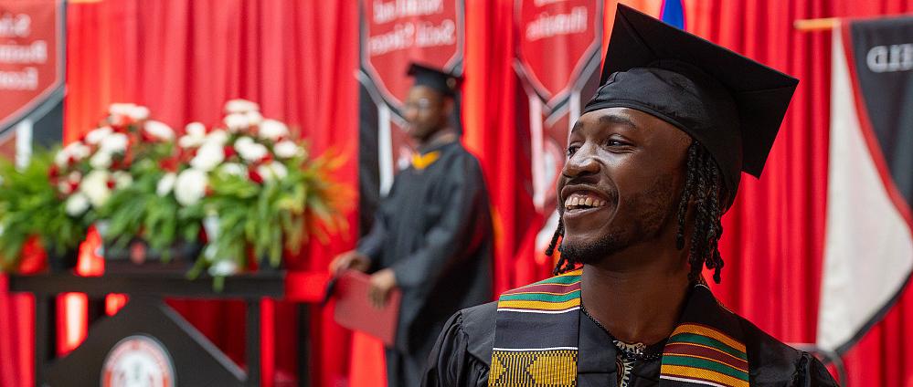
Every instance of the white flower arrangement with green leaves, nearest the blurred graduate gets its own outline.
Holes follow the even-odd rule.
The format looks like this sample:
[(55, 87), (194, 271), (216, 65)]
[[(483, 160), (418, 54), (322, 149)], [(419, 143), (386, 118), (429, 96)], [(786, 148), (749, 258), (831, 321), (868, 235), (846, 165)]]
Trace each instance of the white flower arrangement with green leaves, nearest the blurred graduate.
[(173, 188), (178, 203), (203, 210), (209, 243), (196, 269), (213, 276), (243, 270), (251, 257), (279, 267), (307, 235), (343, 225), (335, 214), (345, 206), (345, 189), (329, 178), (338, 160), (310, 158), (288, 126), (264, 118), (254, 102), (229, 100), (225, 112), (211, 128), (187, 125), (178, 139), (186, 162), (158, 183), (162, 193)]

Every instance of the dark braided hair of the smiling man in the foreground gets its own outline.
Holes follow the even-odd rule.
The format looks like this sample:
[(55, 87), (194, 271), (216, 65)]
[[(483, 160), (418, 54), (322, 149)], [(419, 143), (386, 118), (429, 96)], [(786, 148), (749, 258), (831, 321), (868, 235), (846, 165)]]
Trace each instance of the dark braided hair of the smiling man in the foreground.
[[(720, 282), (720, 270), (723, 268), (723, 258), (719, 254), (719, 237), (723, 235), (723, 225), (720, 218), (723, 215), (723, 200), (726, 190), (723, 186), (722, 174), (717, 163), (714, 162), (710, 152), (698, 141), (693, 141), (688, 147), (686, 162), (685, 189), (678, 204), (678, 231), (675, 235), (675, 246), (681, 250), (685, 248), (685, 220), (689, 204), (694, 204), (695, 230), (691, 235), (691, 245), (688, 250), (688, 263), (691, 272), (688, 279), (696, 281), (700, 277), (701, 269), (706, 266), (713, 269), (713, 280)], [(560, 247), (559, 240), (564, 237), (564, 223), (558, 218), (557, 230), (552, 235), (551, 242), (546, 248), (546, 255), (552, 256), (556, 247)], [(560, 274), (573, 270), (574, 262), (565, 256), (558, 258), (554, 273)]]

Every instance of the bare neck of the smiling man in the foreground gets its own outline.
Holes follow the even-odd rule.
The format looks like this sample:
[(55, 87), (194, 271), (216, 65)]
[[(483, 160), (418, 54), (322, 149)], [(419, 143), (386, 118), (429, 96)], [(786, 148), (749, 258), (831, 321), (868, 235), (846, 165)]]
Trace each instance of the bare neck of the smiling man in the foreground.
[(584, 306), (618, 340), (650, 345), (668, 338), (688, 291), (686, 251), (641, 244), (586, 265)]

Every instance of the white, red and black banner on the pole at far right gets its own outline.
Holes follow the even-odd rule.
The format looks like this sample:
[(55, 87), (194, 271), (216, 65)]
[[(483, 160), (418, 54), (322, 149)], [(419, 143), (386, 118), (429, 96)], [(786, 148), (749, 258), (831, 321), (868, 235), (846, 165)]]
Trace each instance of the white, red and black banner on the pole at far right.
[(833, 33), (818, 346), (852, 348), (913, 271), (913, 17)]

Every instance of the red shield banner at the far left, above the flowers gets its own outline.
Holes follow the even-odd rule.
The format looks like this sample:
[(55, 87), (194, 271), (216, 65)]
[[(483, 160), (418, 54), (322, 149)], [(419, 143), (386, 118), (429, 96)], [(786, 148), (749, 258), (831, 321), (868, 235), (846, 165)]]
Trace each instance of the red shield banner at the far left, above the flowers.
[(0, 0), (0, 157), (62, 137), (65, 23), (62, 0)]

